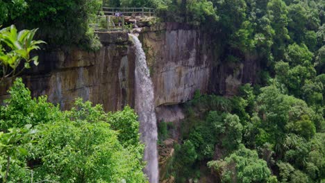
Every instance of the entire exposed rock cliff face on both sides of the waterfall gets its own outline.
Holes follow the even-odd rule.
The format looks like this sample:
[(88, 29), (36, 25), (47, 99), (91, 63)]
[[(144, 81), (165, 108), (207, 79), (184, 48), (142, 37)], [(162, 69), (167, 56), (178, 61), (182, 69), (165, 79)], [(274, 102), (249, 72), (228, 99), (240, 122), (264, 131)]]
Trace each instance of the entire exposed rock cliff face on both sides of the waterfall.
[[(101, 103), (106, 111), (134, 106), (135, 54), (127, 33), (100, 33), (103, 47), (96, 53), (70, 49), (40, 53), (40, 65), (24, 76), (33, 96), (68, 109), (74, 98)], [(202, 94), (233, 95), (242, 82), (254, 82), (255, 58), (225, 63), (213, 53), (211, 37), (183, 24), (146, 27), (140, 40), (147, 54), (156, 107), (183, 103), (199, 89)], [(10, 81), (0, 88), (6, 98)]]

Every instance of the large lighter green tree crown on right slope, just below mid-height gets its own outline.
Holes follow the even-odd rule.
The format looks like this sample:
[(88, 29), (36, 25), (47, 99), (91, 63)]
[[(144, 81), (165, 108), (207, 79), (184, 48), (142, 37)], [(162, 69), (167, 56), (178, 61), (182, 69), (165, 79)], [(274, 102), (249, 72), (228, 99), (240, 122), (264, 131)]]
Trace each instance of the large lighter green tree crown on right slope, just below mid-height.
[[(274, 86), (264, 87), (261, 91), (256, 108), (263, 120), (260, 127), (270, 134), (268, 142), (281, 144), (284, 134), (289, 132), (313, 137), (315, 124), (310, 119), (313, 119), (314, 112), (304, 101), (281, 94)], [(302, 127), (307, 124), (310, 128)], [(298, 127), (301, 130), (297, 130), (297, 125), (301, 125), (301, 128)]]

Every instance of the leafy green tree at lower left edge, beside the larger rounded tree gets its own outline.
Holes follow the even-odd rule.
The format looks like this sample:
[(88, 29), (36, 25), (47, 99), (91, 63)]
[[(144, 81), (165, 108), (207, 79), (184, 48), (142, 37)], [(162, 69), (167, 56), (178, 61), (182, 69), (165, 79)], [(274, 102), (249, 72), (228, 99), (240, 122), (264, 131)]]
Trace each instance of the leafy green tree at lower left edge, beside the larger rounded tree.
[(24, 87), (21, 78), (14, 82), (9, 94), (10, 98), (0, 107), (0, 157), (6, 162), (6, 166), (2, 166), (3, 162), (0, 163), (3, 182), (11, 180), (12, 168), (15, 166), (19, 166), (21, 170), (26, 168), (21, 159), (30, 153), (26, 146), (31, 146), (35, 140), (38, 132), (35, 125), (55, 121), (60, 116), (58, 108), (47, 103), (46, 97), (32, 99), (31, 92)]

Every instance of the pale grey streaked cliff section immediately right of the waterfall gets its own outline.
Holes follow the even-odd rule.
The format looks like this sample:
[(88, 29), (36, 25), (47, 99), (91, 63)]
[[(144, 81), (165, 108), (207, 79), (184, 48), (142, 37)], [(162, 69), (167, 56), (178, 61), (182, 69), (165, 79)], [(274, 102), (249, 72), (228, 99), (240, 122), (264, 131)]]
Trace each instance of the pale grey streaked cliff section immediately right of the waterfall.
[(180, 24), (143, 30), (142, 44), (155, 86), (156, 106), (183, 103), (208, 92), (212, 54), (203, 33)]

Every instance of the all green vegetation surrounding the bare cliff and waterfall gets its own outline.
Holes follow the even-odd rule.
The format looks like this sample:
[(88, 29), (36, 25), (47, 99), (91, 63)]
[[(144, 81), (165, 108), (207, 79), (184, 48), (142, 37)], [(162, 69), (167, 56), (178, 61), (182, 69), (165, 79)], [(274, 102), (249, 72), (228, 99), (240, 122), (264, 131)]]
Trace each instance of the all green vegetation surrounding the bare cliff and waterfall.
[[(40, 28), (36, 37), (49, 48), (94, 50), (100, 44), (88, 23), (102, 3), (156, 8), (160, 21), (200, 28), (215, 41), (221, 62), (258, 58), (257, 82), (242, 85), (238, 96), (197, 92), (184, 104), (181, 137), (164, 178), (325, 182), (324, 0), (0, 0), (0, 25)], [(33, 61), (5, 40), (0, 34), (1, 64), (5, 57)], [(21, 79), (9, 93), (0, 107), (0, 182), (147, 181), (130, 107), (105, 113), (78, 99), (61, 111), (45, 96), (31, 98)], [(159, 134), (160, 141), (169, 138), (167, 124)]]

